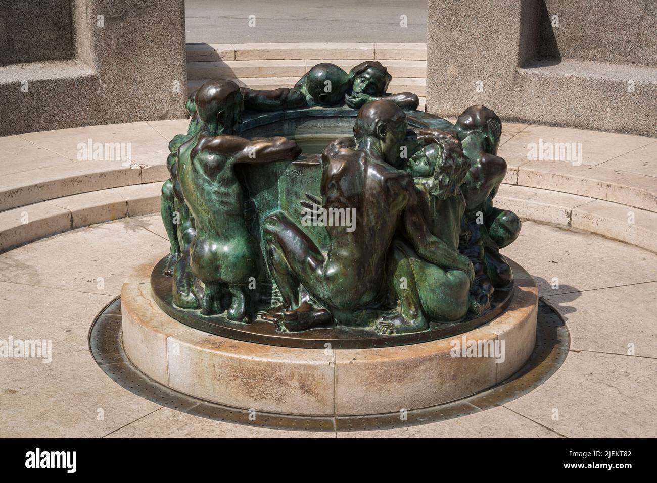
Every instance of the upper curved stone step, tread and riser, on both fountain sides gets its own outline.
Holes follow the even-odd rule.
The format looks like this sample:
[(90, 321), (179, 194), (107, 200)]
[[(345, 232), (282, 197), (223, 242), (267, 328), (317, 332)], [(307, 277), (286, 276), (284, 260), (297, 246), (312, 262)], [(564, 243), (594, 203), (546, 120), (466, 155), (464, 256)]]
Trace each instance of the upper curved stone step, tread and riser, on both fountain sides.
[[(163, 130), (161, 135), (156, 133), (159, 144), (150, 144), (149, 140), (148, 146), (140, 146), (135, 138), (132, 141), (133, 152), (135, 152), (132, 157), (134, 162), (130, 166), (123, 166), (120, 161), (74, 161), (70, 158), (75, 157), (74, 150), (79, 140), (86, 140), (87, 137), (99, 138), (101, 131), (106, 130), (112, 133), (122, 127), (124, 131), (138, 133), (143, 139), (147, 131), (140, 131), (140, 129), (141, 125), (145, 123), (49, 131), (38, 133), (38, 137), (22, 135), (21, 137), (0, 138), (0, 148), (8, 155), (3, 163), (0, 163), (0, 211), (62, 196), (167, 179), (168, 173), (165, 166), (168, 154), (166, 151), (167, 138), (172, 137), (175, 133), (185, 132), (187, 121), (180, 119), (158, 121), (158, 123), (167, 123), (166, 125), (170, 125), (170, 127)], [(152, 124), (159, 126), (157, 123)], [(84, 129), (85, 133), (81, 133), (80, 129)], [(148, 129), (151, 128), (148, 127)], [(560, 128), (550, 129), (555, 131), (556, 136), (560, 136)], [(595, 135), (599, 136), (602, 133), (595, 133)], [(122, 134), (116, 140), (122, 140), (125, 136), (127, 135)], [(28, 142), (27, 139), (32, 142)], [(70, 142), (67, 141), (68, 139)], [(639, 163), (623, 161), (623, 163), (614, 165), (626, 170), (642, 171), (642, 173), (633, 173), (607, 167), (616, 163), (616, 159), (604, 161), (606, 158), (593, 158), (589, 161), (597, 162), (598, 165), (581, 166), (573, 166), (565, 161), (527, 161), (526, 159), (522, 161), (514, 150), (507, 148), (514, 139), (500, 148), (500, 155), (509, 163), (505, 182), (587, 196), (657, 212), (657, 179), (654, 176), (642, 174), (650, 173), (652, 171), (651, 163), (652, 165), (656, 164), (656, 161), (650, 158), (652, 156), (650, 151), (645, 150), (641, 154), (645, 161)], [(650, 138), (646, 139), (650, 141)], [(57, 144), (50, 144), (55, 142)], [(646, 148), (650, 146), (646, 146)], [(30, 150), (30, 148), (33, 149)], [(628, 146), (625, 149), (630, 148), (631, 146)], [(158, 151), (150, 154), (136, 154), (151, 149), (158, 149)], [(61, 155), (53, 153), (51, 150), (58, 150)], [(606, 150), (601, 150), (601, 156), (608, 156), (604, 154), (605, 152)], [(637, 152), (640, 150), (633, 151), (633, 153)], [(22, 154), (18, 156), (20, 153)]]

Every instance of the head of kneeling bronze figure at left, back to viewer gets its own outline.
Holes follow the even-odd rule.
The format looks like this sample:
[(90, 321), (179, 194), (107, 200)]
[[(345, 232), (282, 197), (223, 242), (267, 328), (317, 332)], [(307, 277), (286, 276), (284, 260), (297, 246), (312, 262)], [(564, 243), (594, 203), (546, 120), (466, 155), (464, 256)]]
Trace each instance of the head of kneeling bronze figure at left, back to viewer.
[(225, 79), (204, 83), (194, 96), (201, 129), (214, 136), (239, 133), (243, 104), (239, 86)]

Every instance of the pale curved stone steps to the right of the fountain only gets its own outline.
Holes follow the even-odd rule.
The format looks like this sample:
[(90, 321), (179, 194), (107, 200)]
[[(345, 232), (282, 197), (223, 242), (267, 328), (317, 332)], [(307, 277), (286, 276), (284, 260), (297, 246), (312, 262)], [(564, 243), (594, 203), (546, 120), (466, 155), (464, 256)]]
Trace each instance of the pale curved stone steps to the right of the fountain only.
[[(581, 165), (528, 159), (540, 140), (579, 141)], [(657, 252), (657, 139), (503, 122), (498, 154), (509, 168), (497, 207)]]

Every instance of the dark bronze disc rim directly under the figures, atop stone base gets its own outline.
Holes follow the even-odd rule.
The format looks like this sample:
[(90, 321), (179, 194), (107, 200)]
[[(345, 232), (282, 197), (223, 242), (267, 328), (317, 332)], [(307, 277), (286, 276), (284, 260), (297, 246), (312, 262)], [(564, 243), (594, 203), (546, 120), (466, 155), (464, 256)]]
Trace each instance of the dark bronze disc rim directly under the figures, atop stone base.
[(500, 316), (509, 306), (513, 297), (513, 285), (505, 289), (495, 289), (491, 308), (482, 316), (466, 319), (463, 322), (431, 322), (424, 332), (400, 335), (380, 335), (371, 329), (359, 327), (333, 326), (310, 329), (303, 332), (277, 332), (274, 324), (258, 317), (251, 324), (231, 322), (223, 315), (201, 316), (198, 310), (186, 310), (173, 305), (171, 277), (165, 276), (166, 257), (153, 268), (150, 274), (150, 287), (158, 307), (171, 318), (214, 335), (221, 335), (238, 341), (292, 348), (324, 349), (330, 344), (334, 349), (361, 349), (378, 347), (397, 347), (436, 339), (444, 339), (483, 326)]

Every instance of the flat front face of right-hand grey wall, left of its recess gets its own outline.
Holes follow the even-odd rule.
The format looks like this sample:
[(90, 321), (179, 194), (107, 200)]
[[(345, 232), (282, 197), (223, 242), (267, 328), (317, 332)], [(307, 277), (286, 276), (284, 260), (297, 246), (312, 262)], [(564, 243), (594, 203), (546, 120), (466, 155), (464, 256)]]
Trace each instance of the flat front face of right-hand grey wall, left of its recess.
[(428, 0), (428, 112), (458, 116), (474, 104), (500, 115), (518, 64), (521, 0)]

